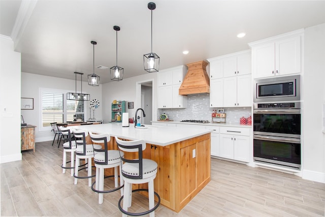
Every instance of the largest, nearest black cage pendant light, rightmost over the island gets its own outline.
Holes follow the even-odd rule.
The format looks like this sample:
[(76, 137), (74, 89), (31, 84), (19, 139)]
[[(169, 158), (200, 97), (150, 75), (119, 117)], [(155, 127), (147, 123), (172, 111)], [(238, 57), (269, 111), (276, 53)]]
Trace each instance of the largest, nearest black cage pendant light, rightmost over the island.
[(143, 55), (144, 70), (148, 73), (159, 71), (159, 57), (157, 54), (152, 53), (152, 10), (156, 8), (153, 2), (148, 3), (148, 9), (151, 10), (151, 53)]

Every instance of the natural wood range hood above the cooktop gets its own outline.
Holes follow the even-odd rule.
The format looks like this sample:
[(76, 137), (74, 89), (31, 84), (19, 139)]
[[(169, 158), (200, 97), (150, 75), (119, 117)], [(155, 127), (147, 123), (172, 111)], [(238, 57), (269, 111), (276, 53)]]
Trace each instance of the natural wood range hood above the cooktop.
[(179, 88), (179, 95), (210, 93), (210, 79), (206, 70), (208, 63), (202, 60), (186, 65), (187, 74)]

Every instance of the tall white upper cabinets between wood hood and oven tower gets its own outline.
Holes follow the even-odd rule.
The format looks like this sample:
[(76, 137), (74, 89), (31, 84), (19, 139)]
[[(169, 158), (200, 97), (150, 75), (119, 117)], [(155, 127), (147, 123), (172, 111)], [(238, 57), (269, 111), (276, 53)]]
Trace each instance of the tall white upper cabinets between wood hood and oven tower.
[(210, 62), (210, 107), (251, 106), (251, 53), (228, 54)]

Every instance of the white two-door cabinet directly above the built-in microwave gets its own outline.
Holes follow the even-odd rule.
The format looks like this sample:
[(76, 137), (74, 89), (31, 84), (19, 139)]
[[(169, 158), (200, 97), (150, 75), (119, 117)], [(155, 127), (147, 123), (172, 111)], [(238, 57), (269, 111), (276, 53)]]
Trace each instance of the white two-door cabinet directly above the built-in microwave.
[(249, 43), (252, 48), (253, 78), (299, 74), (302, 72), (303, 30)]

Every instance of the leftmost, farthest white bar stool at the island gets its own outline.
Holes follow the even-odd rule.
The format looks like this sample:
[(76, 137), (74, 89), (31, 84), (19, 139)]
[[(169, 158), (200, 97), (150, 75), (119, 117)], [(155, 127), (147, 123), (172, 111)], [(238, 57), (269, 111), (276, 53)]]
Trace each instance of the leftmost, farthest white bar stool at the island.
[[(74, 174), (74, 162), (75, 162), (75, 152), (76, 152), (76, 141), (72, 140), (72, 128), (68, 127), (60, 127), (60, 131), (62, 133), (62, 139), (63, 139), (63, 163), (61, 165), (62, 167), (62, 173), (66, 173), (66, 169), (71, 169), (71, 176)], [(67, 162), (67, 152), (71, 153), (71, 161)], [(67, 167), (67, 163), (71, 163), (71, 167)]]

